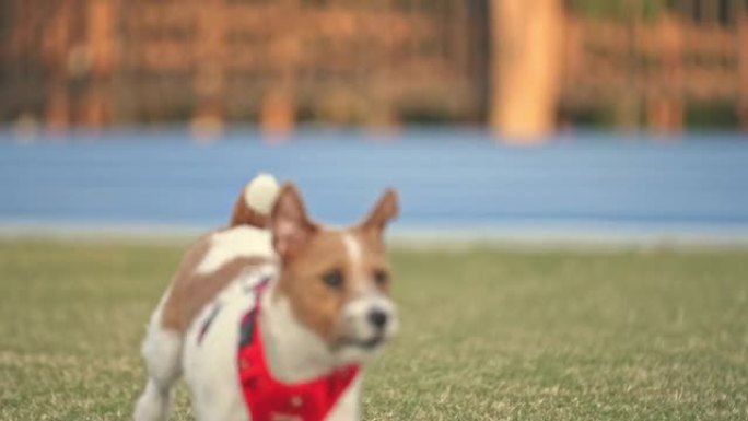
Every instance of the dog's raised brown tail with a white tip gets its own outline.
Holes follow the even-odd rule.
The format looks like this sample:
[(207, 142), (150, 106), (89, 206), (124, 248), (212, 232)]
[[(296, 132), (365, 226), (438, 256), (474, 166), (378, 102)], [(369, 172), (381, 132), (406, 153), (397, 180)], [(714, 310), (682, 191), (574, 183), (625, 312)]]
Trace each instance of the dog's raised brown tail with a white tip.
[(253, 225), (259, 229), (268, 226), (268, 219), (280, 187), (276, 177), (260, 173), (242, 189), (231, 214), (230, 226)]

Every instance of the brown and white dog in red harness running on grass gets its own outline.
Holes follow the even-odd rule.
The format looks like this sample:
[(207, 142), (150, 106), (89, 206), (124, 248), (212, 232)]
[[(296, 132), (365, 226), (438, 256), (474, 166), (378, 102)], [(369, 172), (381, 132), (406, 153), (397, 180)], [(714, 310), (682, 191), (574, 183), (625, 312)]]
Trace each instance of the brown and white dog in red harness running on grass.
[(383, 241), (397, 212), (387, 190), (359, 224), (327, 227), (293, 184), (253, 179), (151, 317), (135, 420), (165, 420), (183, 374), (200, 421), (359, 419), (359, 366), (399, 326)]

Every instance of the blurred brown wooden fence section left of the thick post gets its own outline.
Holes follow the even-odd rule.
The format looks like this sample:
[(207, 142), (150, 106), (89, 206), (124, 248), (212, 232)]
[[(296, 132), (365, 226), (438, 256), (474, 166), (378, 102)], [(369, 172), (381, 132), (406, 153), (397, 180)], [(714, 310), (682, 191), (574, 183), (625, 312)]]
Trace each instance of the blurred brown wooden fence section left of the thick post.
[(0, 90), (17, 101), (0, 104), (3, 119), (285, 129), (299, 118), (387, 126), (409, 110), (478, 109), (478, 34), (459, 1), (11, 3)]

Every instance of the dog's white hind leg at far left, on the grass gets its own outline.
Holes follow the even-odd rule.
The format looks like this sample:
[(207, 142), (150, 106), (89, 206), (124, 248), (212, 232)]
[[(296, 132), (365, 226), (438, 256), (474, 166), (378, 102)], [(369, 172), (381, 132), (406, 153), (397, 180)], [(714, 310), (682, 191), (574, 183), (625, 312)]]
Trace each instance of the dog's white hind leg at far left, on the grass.
[(182, 374), (183, 336), (161, 326), (161, 312), (151, 318), (142, 346), (148, 383), (135, 409), (135, 421), (164, 421), (168, 417), (171, 389)]

